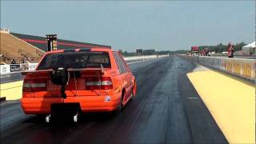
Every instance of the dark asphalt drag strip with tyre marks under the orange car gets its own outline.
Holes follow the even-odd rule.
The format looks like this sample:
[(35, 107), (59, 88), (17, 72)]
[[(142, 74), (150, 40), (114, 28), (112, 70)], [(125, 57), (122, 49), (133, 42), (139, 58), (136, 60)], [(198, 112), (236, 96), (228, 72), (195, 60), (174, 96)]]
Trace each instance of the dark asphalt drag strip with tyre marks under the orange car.
[[(15, 117), (19, 121), (1, 132), (1, 142), (226, 143), (186, 78), (186, 73), (194, 69), (193, 64), (170, 57), (134, 63), (130, 69), (137, 80), (138, 92), (117, 117), (108, 113), (83, 114), (77, 124), (69, 122), (68, 118), (46, 124), (44, 118), (23, 114)], [(10, 111), (20, 114), (22, 110), (18, 106), (19, 103), (1, 104), (4, 109), (1, 121), (10, 118), (2, 117)]]

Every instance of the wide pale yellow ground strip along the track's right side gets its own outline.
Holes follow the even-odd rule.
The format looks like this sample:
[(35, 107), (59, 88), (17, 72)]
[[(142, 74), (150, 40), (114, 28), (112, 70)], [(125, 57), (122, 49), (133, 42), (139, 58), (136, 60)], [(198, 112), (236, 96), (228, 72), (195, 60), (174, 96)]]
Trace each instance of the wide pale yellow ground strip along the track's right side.
[(230, 143), (255, 143), (255, 86), (213, 70), (187, 76)]

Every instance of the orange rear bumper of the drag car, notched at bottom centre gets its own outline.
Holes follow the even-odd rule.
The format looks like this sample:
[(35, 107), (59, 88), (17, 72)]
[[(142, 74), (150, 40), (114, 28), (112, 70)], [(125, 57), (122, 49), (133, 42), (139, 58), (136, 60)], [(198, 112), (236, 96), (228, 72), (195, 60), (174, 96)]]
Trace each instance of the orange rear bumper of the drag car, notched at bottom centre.
[(82, 112), (113, 111), (121, 102), (121, 93), (109, 95), (110, 102), (105, 102), (106, 96), (74, 96), (62, 98), (22, 98), (21, 104), (25, 114), (50, 114), (52, 103), (79, 103)]

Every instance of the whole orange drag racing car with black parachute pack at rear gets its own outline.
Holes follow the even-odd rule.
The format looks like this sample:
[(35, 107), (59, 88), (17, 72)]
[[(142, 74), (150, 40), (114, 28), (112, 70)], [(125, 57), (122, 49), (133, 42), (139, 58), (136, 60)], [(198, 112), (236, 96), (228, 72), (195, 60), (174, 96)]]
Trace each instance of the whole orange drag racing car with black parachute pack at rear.
[(91, 48), (47, 52), (36, 70), (23, 72), (22, 109), (25, 114), (50, 115), (74, 108), (78, 112), (114, 111), (136, 94), (136, 81), (117, 51)]

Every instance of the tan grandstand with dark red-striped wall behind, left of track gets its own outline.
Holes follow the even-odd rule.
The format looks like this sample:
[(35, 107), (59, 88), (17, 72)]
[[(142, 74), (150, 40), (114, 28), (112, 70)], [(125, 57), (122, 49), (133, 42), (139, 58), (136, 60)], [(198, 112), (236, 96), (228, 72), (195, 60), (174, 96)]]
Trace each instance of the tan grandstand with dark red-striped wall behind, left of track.
[[(15, 58), (16, 63), (21, 63), (22, 59), (26, 62), (38, 62), (42, 55), (47, 51), (45, 37), (38, 37), (28, 34), (10, 33), (9, 30), (1, 30), (1, 64), (9, 64)], [(75, 42), (63, 39), (57, 39), (58, 50), (75, 48), (111, 48), (86, 42)]]

